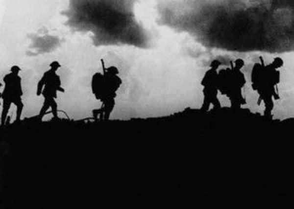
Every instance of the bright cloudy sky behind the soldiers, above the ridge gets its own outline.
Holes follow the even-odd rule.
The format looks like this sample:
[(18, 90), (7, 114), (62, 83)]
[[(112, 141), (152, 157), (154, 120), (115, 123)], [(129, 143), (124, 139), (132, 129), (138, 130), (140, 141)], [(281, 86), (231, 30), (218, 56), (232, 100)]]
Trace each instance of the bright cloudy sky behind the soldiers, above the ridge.
[[(37, 82), (57, 60), (66, 90), (58, 93), (58, 109), (79, 119), (100, 106), (90, 84), (92, 75), (102, 70), (103, 58), (106, 66), (119, 68), (123, 80), (113, 119), (164, 116), (201, 106), (200, 80), (212, 59), (228, 64), (243, 58), (244, 108), (262, 112), (251, 90), (250, 71), (261, 54), (267, 63), (281, 56), (282, 98), (275, 102), (274, 114), (292, 117), (294, 4), (281, 2), (0, 0), (0, 79), (13, 65), (22, 69), (24, 117), (34, 116), (43, 104), (43, 97), (36, 95)], [(219, 97), (223, 106), (229, 104)]]

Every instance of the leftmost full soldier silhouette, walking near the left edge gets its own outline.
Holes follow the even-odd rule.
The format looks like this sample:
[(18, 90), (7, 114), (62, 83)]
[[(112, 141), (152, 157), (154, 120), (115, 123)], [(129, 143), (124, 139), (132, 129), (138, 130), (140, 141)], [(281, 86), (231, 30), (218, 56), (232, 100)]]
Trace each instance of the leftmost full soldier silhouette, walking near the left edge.
[(3, 79), (5, 83), (5, 88), (2, 93), (3, 110), (1, 116), (1, 125), (5, 124), (6, 116), (11, 103), (14, 103), (17, 106), (16, 121), (20, 121), (21, 119), (24, 104), (21, 98), (21, 96), (23, 95), (21, 77), (18, 75), (20, 70), (21, 69), (18, 66), (13, 66), (11, 68), (12, 72), (5, 75)]

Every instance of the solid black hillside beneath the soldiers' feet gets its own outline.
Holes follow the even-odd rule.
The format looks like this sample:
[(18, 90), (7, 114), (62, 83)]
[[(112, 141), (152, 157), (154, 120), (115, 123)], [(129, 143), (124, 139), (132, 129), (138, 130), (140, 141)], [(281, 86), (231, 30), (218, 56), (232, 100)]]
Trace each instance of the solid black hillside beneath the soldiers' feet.
[(294, 119), (226, 108), (129, 121), (26, 120), (0, 130), (2, 208), (284, 202), (294, 186), (293, 127)]

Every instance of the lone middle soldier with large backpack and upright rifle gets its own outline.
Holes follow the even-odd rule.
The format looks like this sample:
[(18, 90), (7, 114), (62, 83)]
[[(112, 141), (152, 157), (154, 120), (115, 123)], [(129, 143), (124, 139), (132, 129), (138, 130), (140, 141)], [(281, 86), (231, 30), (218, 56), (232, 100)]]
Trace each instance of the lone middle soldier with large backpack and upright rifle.
[(105, 69), (104, 62), (102, 62), (103, 74), (96, 73), (92, 77), (92, 92), (95, 97), (102, 102), (100, 109), (93, 110), (93, 116), (97, 119), (100, 115), (100, 120), (108, 120), (110, 113), (112, 112), (116, 97), (116, 91), (122, 84), (122, 80), (117, 74), (119, 70), (112, 66)]

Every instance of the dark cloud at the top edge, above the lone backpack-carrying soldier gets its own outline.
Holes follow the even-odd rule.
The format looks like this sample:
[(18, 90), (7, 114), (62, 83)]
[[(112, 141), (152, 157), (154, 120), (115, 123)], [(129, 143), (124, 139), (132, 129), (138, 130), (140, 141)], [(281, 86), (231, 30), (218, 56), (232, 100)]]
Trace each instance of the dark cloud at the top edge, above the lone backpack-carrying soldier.
[(128, 44), (147, 46), (147, 32), (133, 12), (136, 0), (71, 0), (67, 25), (76, 31), (91, 31), (96, 46)]

